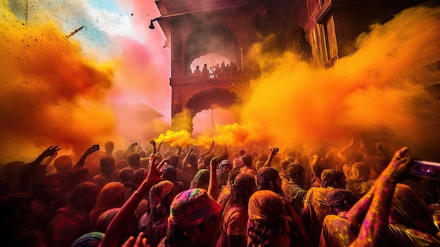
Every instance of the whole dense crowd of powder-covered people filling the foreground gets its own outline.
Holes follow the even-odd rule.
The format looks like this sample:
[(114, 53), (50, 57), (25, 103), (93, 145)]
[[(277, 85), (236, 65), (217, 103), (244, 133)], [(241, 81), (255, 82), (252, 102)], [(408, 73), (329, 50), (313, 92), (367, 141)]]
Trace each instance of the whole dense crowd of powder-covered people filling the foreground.
[(1, 166), (2, 246), (440, 246), (439, 180), (408, 148), (59, 150)]

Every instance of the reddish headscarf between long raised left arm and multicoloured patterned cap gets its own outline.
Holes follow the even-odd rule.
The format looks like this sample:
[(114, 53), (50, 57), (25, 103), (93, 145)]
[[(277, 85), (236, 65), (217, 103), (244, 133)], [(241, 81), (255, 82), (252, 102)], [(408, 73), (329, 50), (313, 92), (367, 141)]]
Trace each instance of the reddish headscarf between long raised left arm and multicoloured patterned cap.
[(164, 205), (162, 200), (171, 194), (173, 189), (174, 184), (168, 180), (164, 180), (151, 187), (149, 202), (153, 221), (168, 217), (167, 205)]

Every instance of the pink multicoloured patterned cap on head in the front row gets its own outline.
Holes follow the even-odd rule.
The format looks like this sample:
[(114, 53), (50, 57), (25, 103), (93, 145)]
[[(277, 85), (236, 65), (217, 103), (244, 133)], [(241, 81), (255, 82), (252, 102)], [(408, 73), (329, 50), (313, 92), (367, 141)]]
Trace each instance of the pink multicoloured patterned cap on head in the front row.
[(188, 189), (174, 198), (169, 223), (181, 229), (195, 227), (219, 213), (221, 206), (204, 189)]

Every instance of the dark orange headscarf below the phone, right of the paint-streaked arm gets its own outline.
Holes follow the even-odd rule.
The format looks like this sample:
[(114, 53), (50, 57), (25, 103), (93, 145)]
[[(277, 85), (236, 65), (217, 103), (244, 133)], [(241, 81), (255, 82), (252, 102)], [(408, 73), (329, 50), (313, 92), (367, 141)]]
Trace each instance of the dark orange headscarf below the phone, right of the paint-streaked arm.
[(436, 227), (429, 217), (428, 206), (410, 186), (396, 184), (391, 206), (391, 224), (403, 224), (435, 236)]

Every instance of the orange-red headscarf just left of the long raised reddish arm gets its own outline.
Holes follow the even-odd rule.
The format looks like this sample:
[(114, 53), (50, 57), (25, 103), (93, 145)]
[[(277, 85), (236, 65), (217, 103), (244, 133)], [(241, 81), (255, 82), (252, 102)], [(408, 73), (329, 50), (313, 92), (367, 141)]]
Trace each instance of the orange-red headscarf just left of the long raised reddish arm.
[(117, 200), (124, 194), (124, 184), (119, 182), (110, 182), (103, 186), (96, 201), (95, 208), (90, 213), (90, 224), (93, 227), (98, 221), (98, 217), (105, 211), (116, 208)]

